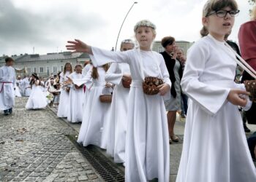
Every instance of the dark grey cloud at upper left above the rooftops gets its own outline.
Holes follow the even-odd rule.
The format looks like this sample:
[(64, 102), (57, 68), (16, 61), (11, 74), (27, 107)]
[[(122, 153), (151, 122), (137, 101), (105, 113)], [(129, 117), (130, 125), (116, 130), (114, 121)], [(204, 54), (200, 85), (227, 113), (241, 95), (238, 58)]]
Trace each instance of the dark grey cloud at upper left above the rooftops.
[[(48, 15), (34, 15), (28, 9), (18, 9), (10, 0), (0, 2), (0, 55), (12, 54), (13, 46), (20, 47), (55, 47), (59, 38), (91, 33), (95, 28), (105, 25), (99, 15), (79, 13), (75, 7), (61, 9)], [(59, 38), (58, 38), (59, 36)], [(4, 46), (2, 46), (4, 45)], [(17, 52), (17, 51), (16, 51)], [(19, 52), (24, 53), (24, 52)]]

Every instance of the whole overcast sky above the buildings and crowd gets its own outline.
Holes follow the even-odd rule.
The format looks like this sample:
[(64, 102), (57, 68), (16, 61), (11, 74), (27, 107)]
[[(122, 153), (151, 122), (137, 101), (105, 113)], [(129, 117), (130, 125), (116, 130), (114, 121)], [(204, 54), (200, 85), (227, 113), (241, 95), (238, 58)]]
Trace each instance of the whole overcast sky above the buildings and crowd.
[[(241, 10), (230, 39), (238, 41), (242, 23), (249, 20), (247, 0), (237, 0)], [(0, 0), (0, 56), (46, 54), (67, 51), (68, 40), (111, 50), (132, 0)], [(118, 39), (134, 39), (133, 27), (139, 20), (157, 25), (157, 37), (173, 36), (177, 41), (197, 41), (206, 0), (138, 0)]]

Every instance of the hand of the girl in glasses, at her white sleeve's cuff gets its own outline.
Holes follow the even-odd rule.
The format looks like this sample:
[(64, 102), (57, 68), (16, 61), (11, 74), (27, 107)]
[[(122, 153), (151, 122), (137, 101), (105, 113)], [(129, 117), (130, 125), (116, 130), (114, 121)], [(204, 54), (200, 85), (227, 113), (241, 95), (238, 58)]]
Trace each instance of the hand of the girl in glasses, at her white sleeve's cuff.
[(247, 100), (245, 97), (241, 97), (241, 95), (249, 95), (249, 92), (245, 90), (230, 90), (227, 95), (227, 100), (233, 105), (236, 106), (246, 106)]

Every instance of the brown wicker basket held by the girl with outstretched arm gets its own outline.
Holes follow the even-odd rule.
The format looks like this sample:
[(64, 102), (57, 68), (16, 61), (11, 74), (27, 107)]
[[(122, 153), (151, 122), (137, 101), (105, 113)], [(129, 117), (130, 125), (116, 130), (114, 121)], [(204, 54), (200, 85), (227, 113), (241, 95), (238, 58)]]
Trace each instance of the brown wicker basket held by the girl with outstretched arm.
[(162, 79), (148, 76), (143, 82), (143, 92), (147, 95), (156, 95), (159, 92), (157, 87), (163, 83)]

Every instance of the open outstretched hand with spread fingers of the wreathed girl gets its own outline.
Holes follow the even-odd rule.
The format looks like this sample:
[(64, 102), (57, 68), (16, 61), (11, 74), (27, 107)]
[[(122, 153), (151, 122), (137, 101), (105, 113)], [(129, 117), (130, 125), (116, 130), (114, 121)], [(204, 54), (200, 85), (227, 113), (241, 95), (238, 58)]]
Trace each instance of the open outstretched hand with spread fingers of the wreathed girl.
[(69, 43), (66, 45), (67, 50), (72, 50), (72, 52), (86, 52), (92, 55), (91, 46), (87, 45), (83, 41), (75, 39), (75, 41), (67, 41)]

